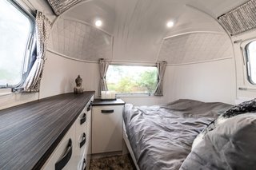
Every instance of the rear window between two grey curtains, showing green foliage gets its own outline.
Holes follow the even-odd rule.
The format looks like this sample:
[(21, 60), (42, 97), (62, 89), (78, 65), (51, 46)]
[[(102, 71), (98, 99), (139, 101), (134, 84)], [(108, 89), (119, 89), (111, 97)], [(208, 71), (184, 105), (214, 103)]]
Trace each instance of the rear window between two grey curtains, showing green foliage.
[(110, 65), (106, 72), (109, 90), (119, 94), (154, 93), (158, 84), (158, 69), (154, 66)]

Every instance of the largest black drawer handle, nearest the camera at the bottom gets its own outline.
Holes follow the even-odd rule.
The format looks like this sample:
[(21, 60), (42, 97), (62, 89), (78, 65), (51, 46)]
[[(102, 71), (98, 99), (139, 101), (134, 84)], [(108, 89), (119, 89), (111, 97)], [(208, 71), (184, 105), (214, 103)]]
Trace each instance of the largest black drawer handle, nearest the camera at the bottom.
[(69, 140), (69, 144), (67, 145), (66, 152), (62, 156), (61, 160), (58, 160), (55, 164), (55, 170), (61, 170), (65, 165), (69, 162), (70, 157), (72, 156), (72, 140)]

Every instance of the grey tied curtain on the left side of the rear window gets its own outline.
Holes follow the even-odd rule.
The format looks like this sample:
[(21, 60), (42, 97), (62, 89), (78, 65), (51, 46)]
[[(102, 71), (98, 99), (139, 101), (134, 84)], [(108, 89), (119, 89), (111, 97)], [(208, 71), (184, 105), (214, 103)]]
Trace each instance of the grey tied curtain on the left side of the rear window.
[(109, 68), (110, 62), (109, 61), (105, 61), (105, 60), (100, 60), (99, 61), (99, 72), (100, 72), (100, 76), (101, 76), (101, 80), (99, 83), (99, 96), (101, 95), (101, 91), (106, 91), (107, 89), (107, 85), (106, 85), (106, 71)]

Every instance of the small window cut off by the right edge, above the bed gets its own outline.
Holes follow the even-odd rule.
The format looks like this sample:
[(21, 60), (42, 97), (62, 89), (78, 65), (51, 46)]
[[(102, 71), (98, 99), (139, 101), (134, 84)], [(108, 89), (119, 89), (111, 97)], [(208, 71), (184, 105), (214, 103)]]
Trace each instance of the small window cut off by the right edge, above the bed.
[(256, 41), (246, 45), (246, 63), (248, 80), (256, 85)]

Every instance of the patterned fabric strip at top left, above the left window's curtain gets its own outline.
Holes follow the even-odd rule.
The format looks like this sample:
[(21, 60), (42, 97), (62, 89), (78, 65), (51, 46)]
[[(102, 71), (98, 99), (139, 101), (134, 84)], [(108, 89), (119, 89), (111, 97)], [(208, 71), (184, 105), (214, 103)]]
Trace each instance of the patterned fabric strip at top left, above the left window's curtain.
[(60, 15), (82, 0), (48, 0), (56, 15)]

